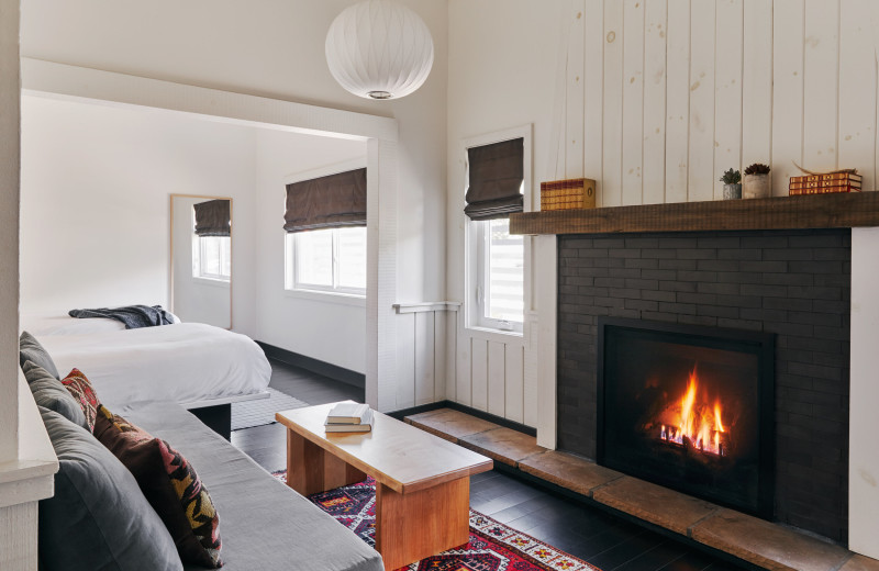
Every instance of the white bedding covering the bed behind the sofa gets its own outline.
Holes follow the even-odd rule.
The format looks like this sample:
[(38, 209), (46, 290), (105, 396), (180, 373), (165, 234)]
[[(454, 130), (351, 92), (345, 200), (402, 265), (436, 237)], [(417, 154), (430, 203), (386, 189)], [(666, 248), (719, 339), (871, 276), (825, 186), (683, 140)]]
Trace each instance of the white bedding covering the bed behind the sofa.
[(187, 405), (256, 394), (271, 377), (263, 349), (249, 337), (201, 323), (34, 336), (62, 376), (82, 371), (111, 411), (140, 401)]

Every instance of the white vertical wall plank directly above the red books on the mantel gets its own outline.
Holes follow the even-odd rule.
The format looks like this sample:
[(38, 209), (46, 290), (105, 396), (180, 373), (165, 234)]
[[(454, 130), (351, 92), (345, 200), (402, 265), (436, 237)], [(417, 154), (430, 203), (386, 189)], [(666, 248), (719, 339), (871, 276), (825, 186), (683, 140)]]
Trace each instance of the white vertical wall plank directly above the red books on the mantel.
[(803, 168), (836, 168), (839, 0), (806, 0), (803, 53)]

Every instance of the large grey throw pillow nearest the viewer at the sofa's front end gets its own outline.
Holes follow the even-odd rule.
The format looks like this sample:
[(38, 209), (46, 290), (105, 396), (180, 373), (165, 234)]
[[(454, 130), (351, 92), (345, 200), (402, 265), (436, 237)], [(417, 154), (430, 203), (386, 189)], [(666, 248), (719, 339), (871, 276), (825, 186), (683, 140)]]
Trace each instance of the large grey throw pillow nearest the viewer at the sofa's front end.
[(45, 571), (181, 571), (170, 534), (137, 482), (85, 428), (41, 407), (58, 456), (55, 495), (40, 502)]

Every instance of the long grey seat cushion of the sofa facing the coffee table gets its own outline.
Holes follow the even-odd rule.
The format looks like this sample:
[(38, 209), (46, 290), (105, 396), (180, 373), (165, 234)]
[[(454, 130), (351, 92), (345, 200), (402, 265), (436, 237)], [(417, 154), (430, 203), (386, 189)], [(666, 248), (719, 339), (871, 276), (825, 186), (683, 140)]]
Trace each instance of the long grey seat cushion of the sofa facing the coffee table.
[[(179, 405), (131, 404), (125, 418), (173, 443), (223, 515), (223, 570), (381, 571), (381, 556)], [(186, 567), (198, 569), (197, 567)]]

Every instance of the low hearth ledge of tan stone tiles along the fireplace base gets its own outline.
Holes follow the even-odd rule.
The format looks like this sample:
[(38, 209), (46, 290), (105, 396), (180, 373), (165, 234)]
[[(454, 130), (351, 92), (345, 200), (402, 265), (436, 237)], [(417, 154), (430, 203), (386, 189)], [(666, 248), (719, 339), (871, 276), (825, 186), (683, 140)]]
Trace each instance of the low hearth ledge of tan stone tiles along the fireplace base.
[(772, 571), (879, 571), (879, 561), (789, 527), (697, 500), (583, 458), (547, 450), (536, 438), (450, 408), (408, 416), (431, 434), (545, 480), (594, 503)]

